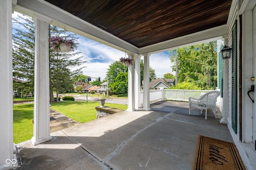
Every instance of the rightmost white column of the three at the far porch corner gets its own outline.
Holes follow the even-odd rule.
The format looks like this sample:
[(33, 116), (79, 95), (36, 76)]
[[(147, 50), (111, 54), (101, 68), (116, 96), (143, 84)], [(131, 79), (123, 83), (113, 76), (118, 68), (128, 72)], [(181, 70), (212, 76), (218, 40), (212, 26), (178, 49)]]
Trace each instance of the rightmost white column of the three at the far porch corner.
[(149, 54), (144, 54), (144, 75), (143, 75), (143, 108), (142, 110), (150, 110), (149, 102)]

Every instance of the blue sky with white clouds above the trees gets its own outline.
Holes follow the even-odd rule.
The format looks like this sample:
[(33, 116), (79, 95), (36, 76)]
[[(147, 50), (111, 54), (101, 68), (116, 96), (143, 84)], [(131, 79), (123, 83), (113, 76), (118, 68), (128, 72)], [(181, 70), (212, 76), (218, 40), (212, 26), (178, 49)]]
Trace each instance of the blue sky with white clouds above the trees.
[[(13, 18), (16, 18), (17, 15), (22, 16), (22, 14), (14, 12), (12, 14)], [(13, 25), (14, 27), (18, 27), (18, 25)], [(22, 28), (20, 28), (22, 29)], [(107, 68), (114, 61), (118, 61), (120, 57), (124, 57), (125, 53), (104, 45), (102, 43), (98, 43), (86, 37), (82, 37), (78, 35), (78, 49), (76, 52), (82, 52), (82, 56), (84, 61), (87, 61), (83, 66), (83, 74), (91, 77), (101, 77), (103, 80), (106, 77)], [(161, 53), (155, 53), (150, 55), (150, 66), (155, 69), (156, 77), (161, 78), (164, 77), (164, 74), (170, 72), (175, 75), (175, 72), (172, 71), (169, 59), (168, 51), (164, 51)], [(143, 59), (143, 57), (141, 57)]]

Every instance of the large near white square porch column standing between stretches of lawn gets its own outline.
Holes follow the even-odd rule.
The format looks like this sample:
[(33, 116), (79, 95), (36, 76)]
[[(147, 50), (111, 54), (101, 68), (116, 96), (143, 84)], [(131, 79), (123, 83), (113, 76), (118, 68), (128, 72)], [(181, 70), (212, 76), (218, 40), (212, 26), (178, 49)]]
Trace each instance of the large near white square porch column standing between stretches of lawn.
[(50, 89), (48, 25), (51, 20), (35, 14), (35, 87), (34, 87), (34, 136), (33, 145), (49, 141), (50, 136)]

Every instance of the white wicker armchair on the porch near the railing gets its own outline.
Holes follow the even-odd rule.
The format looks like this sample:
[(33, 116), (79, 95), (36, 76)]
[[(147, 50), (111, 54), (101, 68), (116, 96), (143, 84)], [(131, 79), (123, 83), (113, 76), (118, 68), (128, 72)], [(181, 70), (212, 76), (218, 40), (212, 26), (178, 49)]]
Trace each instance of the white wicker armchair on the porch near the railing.
[(190, 97), (189, 102), (189, 115), (190, 111), (194, 109), (200, 109), (201, 114), (203, 109), (205, 109), (205, 119), (207, 119), (207, 109), (212, 108), (215, 118), (216, 117), (216, 99), (220, 96), (219, 90), (214, 90), (202, 95), (199, 99)]

